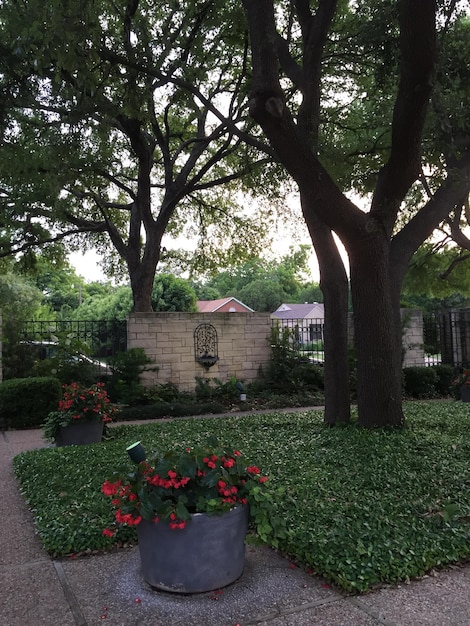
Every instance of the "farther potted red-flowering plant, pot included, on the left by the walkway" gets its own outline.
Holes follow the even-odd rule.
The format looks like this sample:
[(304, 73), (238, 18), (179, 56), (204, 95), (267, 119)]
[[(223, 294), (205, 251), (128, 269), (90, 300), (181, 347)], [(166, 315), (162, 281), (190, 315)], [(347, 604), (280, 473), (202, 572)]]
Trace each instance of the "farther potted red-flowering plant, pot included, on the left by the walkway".
[(44, 423), (44, 436), (58, 446), (95, 443), (101, 441), (104, 424), (112, 421), (113, 413), (103, 383), (63, 385), (57, 411), (49, 413)]

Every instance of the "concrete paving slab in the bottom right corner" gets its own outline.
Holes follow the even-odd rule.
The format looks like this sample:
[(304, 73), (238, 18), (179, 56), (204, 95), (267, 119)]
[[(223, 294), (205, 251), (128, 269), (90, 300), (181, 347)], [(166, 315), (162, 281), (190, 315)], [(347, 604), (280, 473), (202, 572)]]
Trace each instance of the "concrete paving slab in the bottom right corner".
[(400, 626), (470, 626), (470, 568), (455, 566), (357, 599)]

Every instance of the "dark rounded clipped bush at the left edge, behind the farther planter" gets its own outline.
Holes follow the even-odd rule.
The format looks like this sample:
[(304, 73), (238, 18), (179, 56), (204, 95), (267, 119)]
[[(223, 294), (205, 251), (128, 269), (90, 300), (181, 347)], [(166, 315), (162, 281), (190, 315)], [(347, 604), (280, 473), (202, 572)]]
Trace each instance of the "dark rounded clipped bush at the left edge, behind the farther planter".
[(62, 397), (57, 378), (12, 378), (0, 385), (0, 427), (35, 428), (55, 411)]

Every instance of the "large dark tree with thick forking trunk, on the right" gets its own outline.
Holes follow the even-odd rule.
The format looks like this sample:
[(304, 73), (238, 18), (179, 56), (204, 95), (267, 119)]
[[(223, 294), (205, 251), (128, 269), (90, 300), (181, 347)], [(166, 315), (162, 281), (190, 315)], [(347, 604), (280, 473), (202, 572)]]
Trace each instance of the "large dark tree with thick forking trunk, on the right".
[[(250, 113), (298, 185), (314, 244), (331, 243), (333, 231), (349, 256), (358, 356), (359, 421), (368, 427), (401, 425), (404, 416), (399, 297), (403, 276), (419, 245), (446, 216), (462, 206), (470, 184), (469, 128), (464, 127), (460, 129), (460, 139), (466, 136), (467, 143), (460, 141), (459, 148), (454, 146), (452, 150), (445, 144), (447, 149), (441, 151), (447, 170), (442, 182), (429, 201), (396, 230), (403, 201), (422, 172), (423, 130), (439, 58), (436, 3), (399, 0), (362, 6), (362, 3), (319, 0), (314, 12), (309, 0), (276, 3), (276, 12), (272, 0), (243, 3), (250, 25), (253, 64)], [(348, 86), (361, 70), (367, 73), (371, 68), (377, 69), (372, 50), (366, 49), (360, 38), (360, 27), (368, 26), (384, 5), (393, 21), (382, 31), (374, 53), (377, 56), (381, 44), (383, 49), (390, 50), (390, 32), (396, 32), (398, 71), (393, 76), (393, 106), (386, 128), (389, 141), (385, 147), (381, 146), (382, 153), (374, 150), (375, 171), (369, 174), (375, 182), (370, 209), (366, 212), (341, 191), (326, 168), (327, 161), (322, 159), (318, 102), (327, 97), (328, 80), (332, 79), (325, 71), (328, 54), (337, 53), (333, 79), (336, 84), (343, 81), (346, 98)], [(455, 8), (456, 3), (451, 5)], [(341, 21), (345, 15), (352, 16), (359, 27), (348, 40), (341, 39), (340, 31), (335, 30), (335, 18)], [(447, 28), (448, 16), (442, 17), (439, 23), (443, 22)], [(340, 54), (345, 46), (350, 52), (349, 60)], [(388, 86), (391, 82), (389, 78)], [(287, 105), (286, 92), (292, 89), (298, 93), (298, 110)], [(361, 94), (354, 95), (357, 98)], [(377, 106), (380, 104), (383, 104), (383, 92), (377, 93)], [(387, 106), (382, 110), (386, 112)], [(357, 132), (360, 133), (360, 128)], [(365, 149), (363, 145), (363, 152)], [(325, 254), (319, 255), (321, 272), (330, 272), (328, 263), (336, 264), (337, 260), (337, 252), (329, 245)], [(329, 284), (340, 286), (341, 280), (339, 268)], [(338, 287), (338, 293), (343, 294), (344, 290)], [(335, 305), (332, 299), (327, 304), (325, 295), (326, 312), (328, 305), (330, 313), (336, 311), (341, 319), (338, 309), (344, 309), (344, 302), (340, 300)], [(344, 354), (342, 346), (343, 341), (339, 346), (340, 357)], [(331, 343), (325, 343), (325, 349), (328, 362), (334, 358), (329, 352)], [(346, 381), (340, 393), (344, 392), (345, 384)]]

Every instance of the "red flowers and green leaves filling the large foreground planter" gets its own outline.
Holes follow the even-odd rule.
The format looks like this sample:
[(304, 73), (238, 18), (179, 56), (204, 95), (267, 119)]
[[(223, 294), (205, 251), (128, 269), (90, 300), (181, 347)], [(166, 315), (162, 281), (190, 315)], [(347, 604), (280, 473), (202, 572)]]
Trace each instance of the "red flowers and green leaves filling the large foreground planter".
[(206, 447), (155, 453), (124, 477), (106, 480), (102, 492), (112, 498), (118, 524), (146, 519), (182, 529), (192, 513), (222, 513), (250, 504), (267, 480), (238, 450), (222, 449), (212, 439)]

